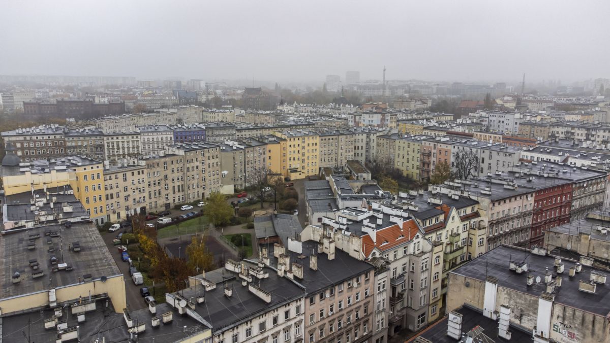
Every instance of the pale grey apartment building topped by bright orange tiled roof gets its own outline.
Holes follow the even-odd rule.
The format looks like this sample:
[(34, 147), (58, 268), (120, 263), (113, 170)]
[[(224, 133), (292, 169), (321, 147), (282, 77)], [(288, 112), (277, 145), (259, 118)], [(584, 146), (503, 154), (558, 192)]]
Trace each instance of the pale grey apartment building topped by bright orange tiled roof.
[(389, 312), (390, 336), (400, 328), (420, 330), (428, 323), (432, 244), (403, 208), (378, 202), (371, 205), (372, 211), (334, 211), (334, 217), (323, 217), (320, 226), (307, 226), (303, 235), (314, 240), (334, 239), (337, 249), (353, 258), (371, 260), (381, 256), (389, 260), (390, 298), (380, 299), (377, 309)]

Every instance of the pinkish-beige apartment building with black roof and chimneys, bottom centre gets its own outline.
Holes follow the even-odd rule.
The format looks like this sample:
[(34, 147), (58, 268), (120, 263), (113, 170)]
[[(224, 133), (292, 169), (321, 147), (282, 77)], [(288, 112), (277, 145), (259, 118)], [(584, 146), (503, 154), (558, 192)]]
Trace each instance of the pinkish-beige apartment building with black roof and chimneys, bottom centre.
[[(305, 236), (303, 236), (305, 238)], [(309, 238), (307, 238), (309, 239)], [(331, 238), (288, 239), (274, 244), (271, 263), (278, 273), (302, 280), (305, 342), (364, 342), (373, 331), (375, 272), (371, 264), (337, 250)], [(267, 253), (263, 247), (263, 258)], [(294, 262), (292, 262), (294, 261)]]

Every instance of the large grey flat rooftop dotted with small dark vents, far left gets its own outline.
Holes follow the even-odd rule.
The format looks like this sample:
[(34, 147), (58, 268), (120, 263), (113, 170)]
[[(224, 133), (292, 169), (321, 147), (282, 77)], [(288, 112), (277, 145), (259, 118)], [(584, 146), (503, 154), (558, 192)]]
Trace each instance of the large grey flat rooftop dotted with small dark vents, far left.
[[(35, 249), (29, 249), (30, 243), (34, 244)], [(72, 249), (75, 243), (80, 246), (79, 252)], [(82, 281), (84, 275), (94, 279), (122, 275), (98, 229), (91, 222), (74, 223), (70, 228), (48, 225), (2, 232), (0, 256), (0, 294), (3, 298), (72, 285)], [(57, 264), (51, 264), (52, 258), (56, 259)], [(37, 269), (30, 266), (32, 263), (37, 263)], [(52, 271), (62, 263), (66, 269)], [(71, 270), (67, 270), (67, 267), (71, 267)], [(19, 283), (12, 282), (15, 272), (21, 274)], [(40, 272), (44, 276), (33, 277)]]

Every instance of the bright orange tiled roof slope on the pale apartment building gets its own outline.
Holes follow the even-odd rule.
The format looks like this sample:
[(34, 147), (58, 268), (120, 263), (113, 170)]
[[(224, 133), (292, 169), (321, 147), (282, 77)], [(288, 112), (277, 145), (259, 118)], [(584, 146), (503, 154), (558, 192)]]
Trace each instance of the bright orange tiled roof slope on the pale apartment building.
[(373, 242), (370, 235), (362, 237), (362, 251), (364, 251), (364, 256), (368, 257), (373, 249), (384, 251), (400, 246), (400, 244), (411, 241), (418, 232), (419, 227), (415, 219), (403, 222), (402, 230), (398, 224), (382, 228), (376, 232), (376, 242)]

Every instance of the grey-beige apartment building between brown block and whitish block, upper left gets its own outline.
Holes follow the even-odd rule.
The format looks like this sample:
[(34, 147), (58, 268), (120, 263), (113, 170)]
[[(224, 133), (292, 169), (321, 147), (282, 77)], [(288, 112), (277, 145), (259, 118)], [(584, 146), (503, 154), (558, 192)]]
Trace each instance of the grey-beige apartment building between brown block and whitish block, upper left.
[(95, 128), (66, 129), (66, 154), (82, 155), (85, 157), (103, 160), (104, 133)]

